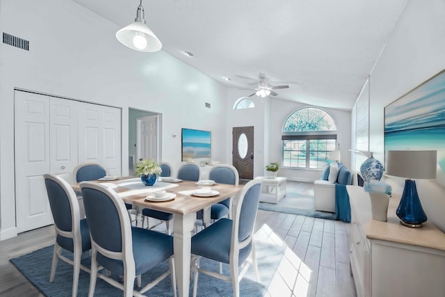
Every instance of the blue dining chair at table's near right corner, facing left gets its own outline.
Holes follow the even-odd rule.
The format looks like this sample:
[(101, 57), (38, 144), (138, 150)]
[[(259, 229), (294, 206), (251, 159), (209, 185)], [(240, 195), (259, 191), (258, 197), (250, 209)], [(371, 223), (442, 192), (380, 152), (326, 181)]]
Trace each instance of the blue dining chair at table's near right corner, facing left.
[[(232, 282), (234, 296), (236, 297), (239, 296), (239, 281), (248, 269), (248, 263), (252, 262), (254, 265), (257, 281), (259, 282), (253, 230), (257, 218), (260, 193), (261, 179), (251, 180), (234, 199), (232, 220), (221, 218), (192, 237), (191, 252), (194, 258), (192, 265), (193, 297), (196, 296), (197, 292), (199, 272)], [(229, 264), (230, 277), (200, 268), (201, 257)], [(241, 273), (239, 271), (240, 266), (243, 267)]]

